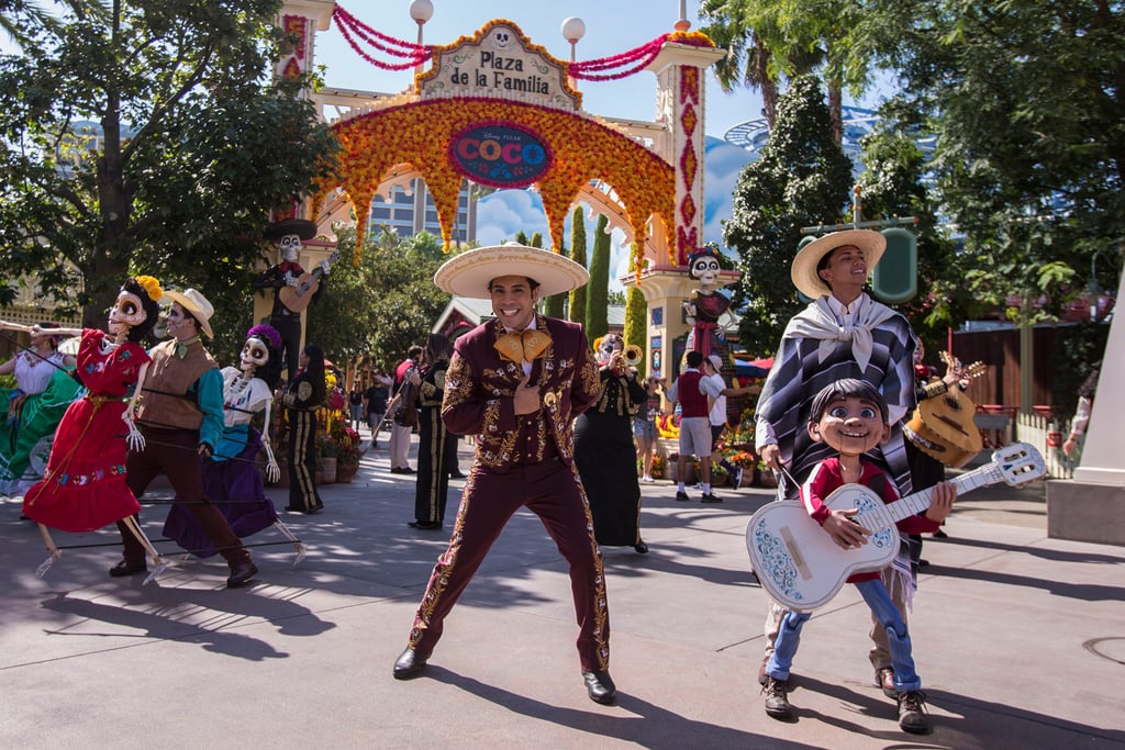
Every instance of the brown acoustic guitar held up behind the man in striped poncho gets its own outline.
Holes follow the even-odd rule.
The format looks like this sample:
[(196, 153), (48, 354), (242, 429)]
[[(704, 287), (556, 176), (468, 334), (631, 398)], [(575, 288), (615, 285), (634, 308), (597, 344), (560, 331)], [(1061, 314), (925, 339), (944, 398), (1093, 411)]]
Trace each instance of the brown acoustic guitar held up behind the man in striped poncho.
[[(946, 352), (942, 352), (942, 361), (961, 378), (978, 378), (986, 370), (983, 362), (973, 362), (964, 368)], [(976, 405), (954, 386), (940, 396), (918, 404), (902, 434), (921, 452), (956, 469), (969, 463), (984, 448), (973, 419), (975, 415)]]

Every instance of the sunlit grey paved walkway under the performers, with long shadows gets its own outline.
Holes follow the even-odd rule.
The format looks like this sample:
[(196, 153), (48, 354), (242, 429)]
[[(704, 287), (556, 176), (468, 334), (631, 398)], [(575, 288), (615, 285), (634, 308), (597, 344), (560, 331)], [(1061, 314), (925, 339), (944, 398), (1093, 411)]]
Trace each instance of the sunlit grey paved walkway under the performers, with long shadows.
[[(370, 452), (353, 484), (322, 488), (323, 513), (282, 514), (308, 555), (294, 567), (291, 545), (255, 548), (259, 582), (241, 590), (224, 588), (216, 559), (147, 586), (110, 579), (112, 545), (69, 549), (38, 579), (39, 535), (0, 503), (0, 747), (1125, 747), (1125, 549), (1047, 539), (1042, 484), (964, 497), (950, 539), (926, 543), (911, 634), (935, 730), (918, 738), (872, 684), (868, 615), (848, 588), (804, 630), (796, 720), (763, 712), (766, 596), (744, 545), (770, 499), (758, 489), (704, 506), (676, 503), (668, 482), (644, 487), (651, 552), (604, 550), (615, 706), (586, 697), (565, 566), (528, 513), (447, 621), (428, 672), (394, 680), (447, 537), (406, 526), (413, 477), (387, 469), (385, 450)], [(153, 537), (163, 516), (144, 513)]]

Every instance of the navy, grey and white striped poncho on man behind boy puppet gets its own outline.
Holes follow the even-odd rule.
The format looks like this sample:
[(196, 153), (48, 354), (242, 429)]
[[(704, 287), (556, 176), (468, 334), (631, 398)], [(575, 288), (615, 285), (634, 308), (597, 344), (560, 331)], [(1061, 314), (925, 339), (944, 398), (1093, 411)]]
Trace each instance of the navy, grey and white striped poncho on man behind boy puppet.
[[(782, 335), (762, 395), (755, 443), (776, 442), (781, 459), (800, 482), (817, 462), (834, 455), (826, 443), (809, 436), (813, 397), (842, 378), (875, 386), (891, 412), (891, 437), (867, 454), (894, 479), (900, 495), (911, 491), (910, 468), (902, 441), (902, 415), (914, 408), (915, 336), (899, 313), (863, 295), (853, 325), (842, 326), (821, 297), (790, 320)], [(796, 487), (786, 491), (795, 497)]]

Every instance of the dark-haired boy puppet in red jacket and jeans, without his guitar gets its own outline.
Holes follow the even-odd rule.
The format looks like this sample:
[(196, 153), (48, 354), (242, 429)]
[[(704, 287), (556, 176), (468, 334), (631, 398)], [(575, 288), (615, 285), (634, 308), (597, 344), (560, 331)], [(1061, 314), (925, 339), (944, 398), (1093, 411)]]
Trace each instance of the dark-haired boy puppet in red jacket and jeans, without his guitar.
[[(832, 449), (835, 455), (822, 459), (801, 485), (801, 501), (809, 516), (843, 549), (867, 544), (872, 532), (852, 516), (856, 508), (832, 510), (825, 504), (832, 491), (845, 485), (858, 484), (874, 490), (884, 504), (899, 499), (894, 482), (864, 453), (885, 443), (891, 435), (886, 400), (871, 383), (845, 378), (829, 385), (812, 400), (807, 431), (816, 443)], [(948, 482), (934, 486), (929, 507), (924, 514), (909, 515), (898, 522), (900, 534), (933, 532), (953, 508), (956, 490)], [(891, 580), (901, 578), (900, 587), (912, 598), (915, 576), (907, 555), (900, 550), (888, 569)], [(855, 584), (872, 616), (886, 631), (894, 670), (893, 689), (898, 702), (899, 726), (912, 734), (929, 732), (929, 715), (921, 679), (915, 670), (910, 633), (906, 620), (888, 590), (885, 575), (878, 571), (855, 573), (847, 582)], [(790, 719), (789, 672), (801, 639), (801, 627), (811, 617), (808, 612), (789, 611), (782, 620), (773, 654), (766, 663), (765, 711), (774, 719)]]

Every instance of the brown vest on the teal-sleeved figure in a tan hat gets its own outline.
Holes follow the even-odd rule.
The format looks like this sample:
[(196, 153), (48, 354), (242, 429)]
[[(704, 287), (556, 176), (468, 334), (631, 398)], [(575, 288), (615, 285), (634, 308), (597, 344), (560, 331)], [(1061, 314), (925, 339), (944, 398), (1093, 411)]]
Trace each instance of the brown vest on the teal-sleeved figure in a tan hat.
[(183, 397), (188, 388), (208, 370), (217, 369), (218, 363), (198, 338), (187, 345), (182, 359), (176, 353), (177, 344), (174, 340), (165, 341), (148, 352), (152, 363), (144, 379), (137, 418), (155, 427), (199, 430), (204, 414), (194, 399)]

